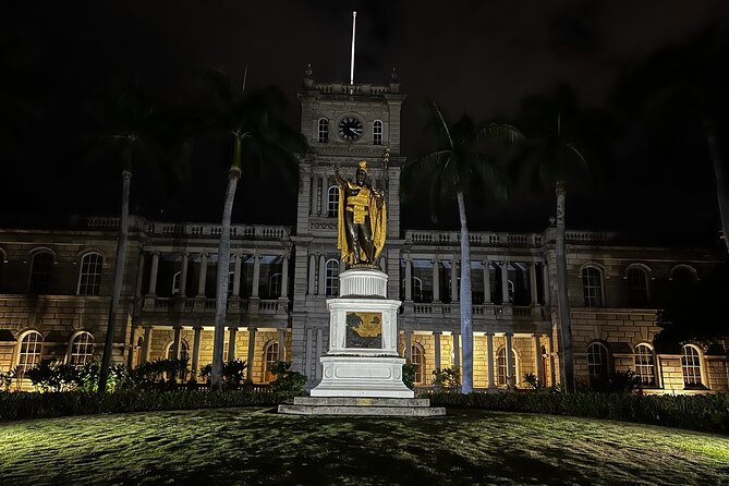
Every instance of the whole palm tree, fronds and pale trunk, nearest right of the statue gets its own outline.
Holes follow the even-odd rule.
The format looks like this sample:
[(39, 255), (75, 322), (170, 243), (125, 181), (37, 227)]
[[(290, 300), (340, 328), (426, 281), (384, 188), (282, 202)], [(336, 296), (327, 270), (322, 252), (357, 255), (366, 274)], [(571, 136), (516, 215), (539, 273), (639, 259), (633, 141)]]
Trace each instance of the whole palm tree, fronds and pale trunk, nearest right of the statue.
[(507, 177), (495, 161), (476, 151), (476, 145), (486, 139), (513, 144), (522, 138), (521, 132), (505, 123), (475, 124), (467, 117), (455, 123), (449, 123), (440, 108), (429, 101), (432, 120), (438, 149), (425, 157), (408, 163), (402, 170), (402, 191), (408, 195), (414, 184), (423, 178), (432, 178), (432, 215), (437, 218), (440, 203), (455, 198), (461, 226), (461, 336), (462, 344), (462, 387), (463, 393), (473, 391), (473, 327), (471, 294), (471, 245), (465, 216), (465, 197), (470, 193), (490, 187), (494, 195), (506, 198)]

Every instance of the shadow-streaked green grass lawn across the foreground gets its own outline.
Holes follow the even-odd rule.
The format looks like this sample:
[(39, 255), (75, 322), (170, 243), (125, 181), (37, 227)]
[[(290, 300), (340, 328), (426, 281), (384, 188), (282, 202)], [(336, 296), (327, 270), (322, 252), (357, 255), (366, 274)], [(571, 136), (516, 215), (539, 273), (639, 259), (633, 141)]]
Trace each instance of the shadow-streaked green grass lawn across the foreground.
[(548, 415), (270, 409), (0, 424), (0, 485), (729, 484), (729, 437)]

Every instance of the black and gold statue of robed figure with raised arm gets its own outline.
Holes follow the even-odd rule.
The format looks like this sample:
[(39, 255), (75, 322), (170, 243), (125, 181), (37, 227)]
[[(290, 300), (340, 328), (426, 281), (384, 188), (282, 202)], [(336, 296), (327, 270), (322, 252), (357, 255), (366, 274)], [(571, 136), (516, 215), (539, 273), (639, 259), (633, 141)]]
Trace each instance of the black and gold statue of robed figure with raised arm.
[(337, 247), (342, 252), (342, 260), (379, 268), (377, 259), (387, 232), (385, 196), (365, 182), (365, 160), (357, 163), (355, 182), (342, 179), (339, 166), (335, 166), (335, 178), (339, 184)]

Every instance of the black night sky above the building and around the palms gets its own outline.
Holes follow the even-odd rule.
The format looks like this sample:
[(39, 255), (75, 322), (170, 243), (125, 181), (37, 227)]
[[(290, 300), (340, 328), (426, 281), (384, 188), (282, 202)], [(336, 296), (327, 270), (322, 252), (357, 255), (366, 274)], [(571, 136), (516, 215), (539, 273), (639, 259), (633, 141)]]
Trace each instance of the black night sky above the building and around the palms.
[[(307, 63), (317, 81), (348, 80), (356, 9), (355, 80), (387, 83), (396, 68), (408, 95), (401, 155), (435, 148), (423, 130), (427, 97), (451, 120), (467, 113), (510, 121), (536, 136), (556, 114), (545, 108), (540, 125), (524, 121), (525, 100), (554, 99), (562, 89), (573, 94), (563, 109), (564, 136), (599, 166), (590, 181), (568, 187), (569, 227), (665, 238), (678, 229), (696, 241), (716, 240), (712, 166), (696, 102), (682, 86), (708, 100), (728, 158), (724, 3), (12, 2), (0, 19), (0, 215), (118, 214), (118, 166), (83, 147), (125, 83), (174, 105), (184, 102), (192, 73), (219, 68), (240, 80), (247, 65), (251, 87), (274, 84), (285, 93), (296, 127), (295, 95)], [(133, 211), (218, 221), (226, 162), (222, 154), (197, 154), (180, 181), (137, 168)], [(544, 230), (554, 194), (525, 185), (517, 184), (506, 204), (470, 202), (471, 229)], [(403, 229), (434, 227), (421, 202), (404, 204)], [(455, 205), (447, 210), (435, 227), (457, 228)], [(254, 180), (244, 169), (233, 222), (292, 224), (294, 217), (295, 194), (275, 170), (264, 167)]]

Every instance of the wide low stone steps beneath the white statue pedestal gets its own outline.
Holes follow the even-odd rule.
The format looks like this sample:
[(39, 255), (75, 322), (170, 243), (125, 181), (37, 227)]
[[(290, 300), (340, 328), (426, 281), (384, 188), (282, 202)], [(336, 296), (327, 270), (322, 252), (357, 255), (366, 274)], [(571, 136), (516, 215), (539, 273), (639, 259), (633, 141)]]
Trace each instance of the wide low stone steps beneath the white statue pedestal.
[(430, 406), (428, 399), (296, 397), (293, 405), (279, 405), (279, 413), (429, 417), (446, 415), (446, 409)]

